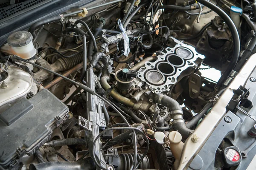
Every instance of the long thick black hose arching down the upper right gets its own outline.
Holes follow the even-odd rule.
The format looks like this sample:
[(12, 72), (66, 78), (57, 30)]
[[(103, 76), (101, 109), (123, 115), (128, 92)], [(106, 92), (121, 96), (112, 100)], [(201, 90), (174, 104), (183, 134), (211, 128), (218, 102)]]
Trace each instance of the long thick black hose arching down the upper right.
[(227, 79), (227, 76), (230, 74), (232, 69), (235, 67), (236, 62), (239, 58), (239, 53), (240, 53), (240, 39), (239, 39), (239, 34), (236, 29), (235, 24), (233, 21), (230, 19), (230, 17), (218, 6), (215, 6), (213, 3), (210, 3), (207, 0), (198, 0), (198, 3), (203, 4), (207, 8), (212, 9), (216, 14), (218, 14), (226, 23), (227, 26), (230, 29), (230, 32), (233, 37), (233, 55), (232, 59), (230, 61), (230, 64), (227, 66), (227, 69), (224, 71), (224, 73), (221, 75), (221, 78), (218, 80), (216, 87), (220, 87), (222, 83)]

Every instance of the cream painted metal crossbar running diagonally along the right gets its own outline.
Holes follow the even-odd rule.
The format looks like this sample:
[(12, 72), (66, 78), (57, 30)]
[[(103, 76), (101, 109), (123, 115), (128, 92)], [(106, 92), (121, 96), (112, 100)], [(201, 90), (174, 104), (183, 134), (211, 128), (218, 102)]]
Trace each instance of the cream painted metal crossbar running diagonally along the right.
[(194, 143), (191, 141), (191, 137), (186, 140), (182, 157), (180, 159), (180, 166), (178, 170), (186, 169), (195, 155), (201, 150), (201, 147), (207, 141), (209, 136), (212, 134), (215, 127), (221, 121), (223, 116), (226, 113), (226, 106), (230, 102), (230, 99), (233, 96), (233, 90), (238, 89), (240, 85), (244, 85), (248, 78), (250, 78), (250, 74), (255, 68), (256, 63), (256, 54), (253, 54), (244, 67), (241, 69), (239, 74), (233, 80), (233, 82), (228, 86), (227, 90), (221, 95), (218, 102), (206, 116), (204, 121), (195, 129), (194, 134), (196, 133), (199, 137), (199, 141)]

